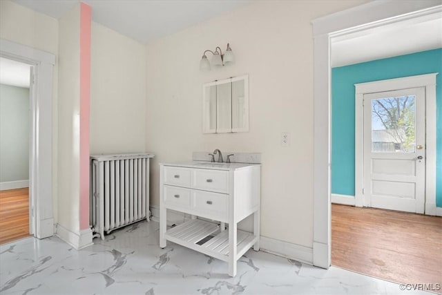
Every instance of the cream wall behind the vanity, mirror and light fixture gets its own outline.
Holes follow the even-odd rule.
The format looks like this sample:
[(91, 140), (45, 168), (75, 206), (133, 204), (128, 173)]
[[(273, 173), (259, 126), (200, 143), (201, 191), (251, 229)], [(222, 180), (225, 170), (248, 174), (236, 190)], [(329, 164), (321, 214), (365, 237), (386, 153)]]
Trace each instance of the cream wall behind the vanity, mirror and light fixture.
[[(146, 46), (146, 150), (158, 163), (192, 151), (262, 153), (261, 234), (313, 245), (313, 40), (311, 19), (365, 1), (257, 1)], [(236, 64), (201, 73), (205, 49), (230, 42)], [(210, 57), (209, 57), (210, 58)], [(202, 84), (249, 74), (250, 131), (202, 134)], [(291, 145), (282, 147), (282, 132)], [(324, 184), (327, 185), (327, 184)]]

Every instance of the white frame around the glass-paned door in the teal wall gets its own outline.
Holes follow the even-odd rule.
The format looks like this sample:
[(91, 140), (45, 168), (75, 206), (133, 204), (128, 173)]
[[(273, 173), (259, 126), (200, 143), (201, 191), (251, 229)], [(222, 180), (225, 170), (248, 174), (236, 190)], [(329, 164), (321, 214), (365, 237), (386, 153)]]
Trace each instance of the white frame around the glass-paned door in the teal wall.
[(369, 207), (364, 187), (364, 95), (403, 88), (425, 88), (425, 215), (436, 213), (436, 75), (409, 77), (354, 84), (355, 86), (355, 202)]

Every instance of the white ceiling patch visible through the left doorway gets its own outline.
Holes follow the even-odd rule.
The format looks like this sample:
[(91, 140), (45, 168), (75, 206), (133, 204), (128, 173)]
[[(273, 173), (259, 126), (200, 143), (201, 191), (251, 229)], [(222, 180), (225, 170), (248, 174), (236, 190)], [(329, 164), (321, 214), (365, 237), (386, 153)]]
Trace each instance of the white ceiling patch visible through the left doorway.
[(0, 57), (0, 84), (29, 88), (30, 65)]

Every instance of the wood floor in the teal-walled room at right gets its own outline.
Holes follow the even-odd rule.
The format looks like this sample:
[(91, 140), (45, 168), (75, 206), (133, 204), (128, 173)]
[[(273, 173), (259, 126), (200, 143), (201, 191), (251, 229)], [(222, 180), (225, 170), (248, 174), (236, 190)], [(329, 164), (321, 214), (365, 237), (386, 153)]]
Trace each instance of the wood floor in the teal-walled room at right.
[(332, 204), (332, 265), (395, 283), (442, 283), (442, 218)]

